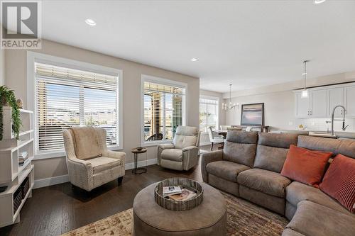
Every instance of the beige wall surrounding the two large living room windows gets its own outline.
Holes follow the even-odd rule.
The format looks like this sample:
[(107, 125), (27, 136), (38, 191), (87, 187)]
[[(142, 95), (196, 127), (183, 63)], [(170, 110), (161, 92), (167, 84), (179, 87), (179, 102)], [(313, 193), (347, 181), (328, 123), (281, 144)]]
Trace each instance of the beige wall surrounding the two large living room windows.
[[(141, 144), (141, 74), (186, 83), (187, 125), (199, 125), (200, 79), (48, 40), (43, 40), (42, 49), (35, 50), (35, 52), (123, 70), (124, 150), (122, 151), (126, 152), (126, 163), (133, 162), (131, 148)], [(14, 89), (16, 96), (23, 99), (26, 104), (26, 50), (6, 52), (6, 85)], [(148, 159), (155, 158), (156, 147), (148, 147)], [(39, 159), (35, 160), (34, 164), (35, 179), (67, 174), (65, 157)]]

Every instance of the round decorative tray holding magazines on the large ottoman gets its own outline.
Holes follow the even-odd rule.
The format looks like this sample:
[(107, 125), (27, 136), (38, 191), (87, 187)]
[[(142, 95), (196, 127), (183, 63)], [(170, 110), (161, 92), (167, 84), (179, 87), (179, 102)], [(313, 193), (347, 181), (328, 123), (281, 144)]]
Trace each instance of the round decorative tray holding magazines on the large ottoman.
[[(180, 188), (194, 191), (197, 195), (187, 201), (175, 201), (170, 198), (163, 197), (164, 186), (180, 186)], [(199, 206), (203, 201), (202, 186), (195, 180), (186, 178), (171, 178), (160, 181), (154, 190), (155, 202), (159, 206), (168, 210), (190, 210)]]

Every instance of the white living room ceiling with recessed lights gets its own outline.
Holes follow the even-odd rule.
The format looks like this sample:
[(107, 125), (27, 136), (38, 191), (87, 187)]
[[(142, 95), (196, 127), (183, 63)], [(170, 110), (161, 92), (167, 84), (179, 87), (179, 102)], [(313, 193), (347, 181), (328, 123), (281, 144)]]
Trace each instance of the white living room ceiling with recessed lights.
[(354, 12), (339, 0), (43, 1), (42, 34), (226, 92), (302, 79), (305, 59), (308, 77), (354, 71)]

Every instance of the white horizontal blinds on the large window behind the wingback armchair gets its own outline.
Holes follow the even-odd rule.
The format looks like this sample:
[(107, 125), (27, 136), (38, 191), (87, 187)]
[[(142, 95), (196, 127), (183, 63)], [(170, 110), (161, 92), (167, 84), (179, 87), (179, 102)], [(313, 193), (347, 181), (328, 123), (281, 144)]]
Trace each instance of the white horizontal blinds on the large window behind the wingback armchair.
[(64, 150), (62, 130), (89, 125), (118, 145), (118, 77), (35, 63), (36, 151)]

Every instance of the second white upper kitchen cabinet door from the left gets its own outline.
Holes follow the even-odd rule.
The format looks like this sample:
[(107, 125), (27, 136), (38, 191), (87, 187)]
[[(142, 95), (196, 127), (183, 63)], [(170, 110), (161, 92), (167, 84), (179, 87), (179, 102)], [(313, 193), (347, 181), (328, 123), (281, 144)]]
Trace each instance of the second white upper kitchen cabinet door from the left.
[(327, 90), (310, 91), (310, 117), (327, 117)]

